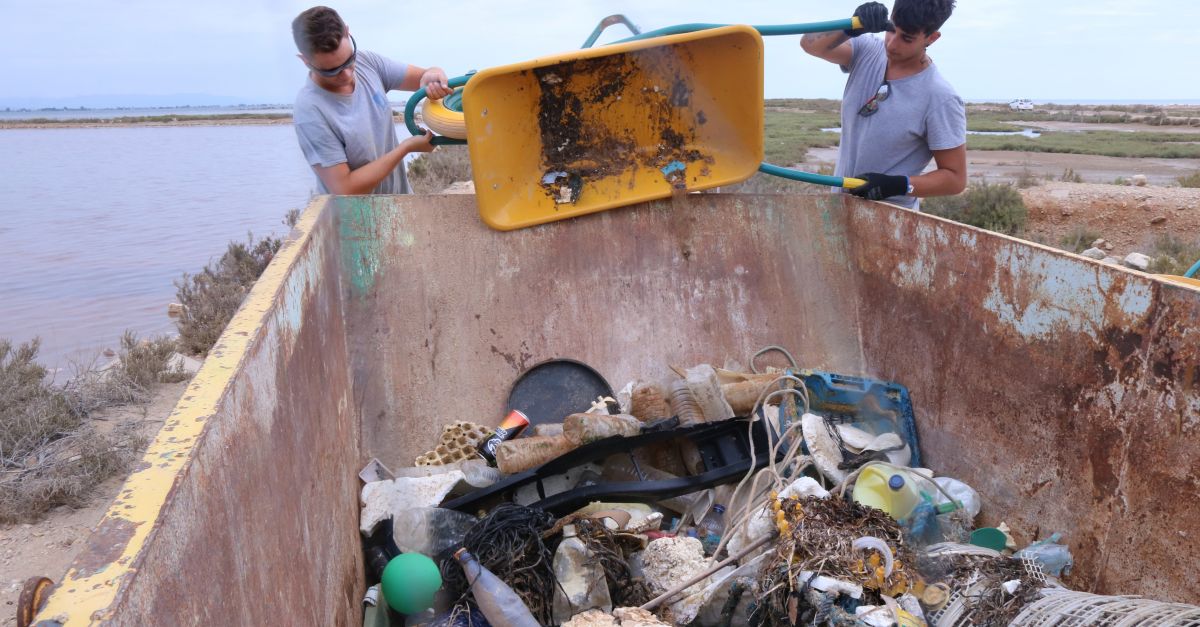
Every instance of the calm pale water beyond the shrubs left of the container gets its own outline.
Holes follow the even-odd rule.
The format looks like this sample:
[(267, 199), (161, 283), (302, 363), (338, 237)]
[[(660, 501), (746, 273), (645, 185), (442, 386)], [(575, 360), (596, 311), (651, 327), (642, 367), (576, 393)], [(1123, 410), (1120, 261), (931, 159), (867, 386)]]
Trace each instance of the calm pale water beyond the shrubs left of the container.
[(173, 281), (316, 189), (289, 124), (0, 130), (0, 338), (52, 368), (172, 333)]

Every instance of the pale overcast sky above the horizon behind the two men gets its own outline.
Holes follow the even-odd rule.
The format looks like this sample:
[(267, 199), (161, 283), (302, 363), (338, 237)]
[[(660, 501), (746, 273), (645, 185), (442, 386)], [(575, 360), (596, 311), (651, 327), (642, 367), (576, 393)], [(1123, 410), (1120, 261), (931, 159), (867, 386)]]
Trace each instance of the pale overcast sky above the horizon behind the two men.
[[(80, 95), (209, 94), (292, 102), (305, 70), (290, 0), (0, 0), (0, 104)], [(840, 19), (857, 1), (346, 0), (362, 48), (450, 76), (577, 48), (611, 13), (643, 29), (686, 22)], [(968, 100), (1200, 100), (1200, 4), (960, 0), (930, 48)], [(601, 40), (628, 34), (612, 26)], [(767, 97), (840, 97), (844, 77), (798, 37), (767, 38)], [(394, 100), (402, 96), (394, 95)]]

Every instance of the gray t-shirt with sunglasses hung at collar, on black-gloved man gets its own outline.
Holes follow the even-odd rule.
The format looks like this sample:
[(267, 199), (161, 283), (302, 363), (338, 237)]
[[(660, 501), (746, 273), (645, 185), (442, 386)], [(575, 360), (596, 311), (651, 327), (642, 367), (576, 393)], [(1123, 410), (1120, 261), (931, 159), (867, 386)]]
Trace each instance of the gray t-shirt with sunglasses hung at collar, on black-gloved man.
[[(931, 150), (958, 148), (967, 142), (967, 114), (962, 98), (930, 64), (920, 72), (889, 80), (890, 94), (870, 117), (859, 109), (883, 84), (888, 55), (883, 41), (863, 35), (851, 40), (853, 56), (841, 100), (841, 148), (838, 177), (868, 172), (916, 177), (934, 159)], [(888, 202), (918, 209), (917, 198), (896, 196)]]

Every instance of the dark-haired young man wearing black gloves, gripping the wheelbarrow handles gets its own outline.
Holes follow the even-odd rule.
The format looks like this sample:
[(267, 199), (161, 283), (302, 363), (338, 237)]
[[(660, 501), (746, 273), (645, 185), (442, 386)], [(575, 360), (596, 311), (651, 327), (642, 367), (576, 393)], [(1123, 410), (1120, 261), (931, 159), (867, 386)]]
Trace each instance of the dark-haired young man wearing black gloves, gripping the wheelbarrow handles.
[[(895, 0), (889, 22), (886, 6), (866, 2), (854, 11), (863, 28), (800, 40), (850, 73), (835, 174), (866, 180), (851, 193), (919, 209), (919, 197), (966, 187), (966, 107), (925, 52), (953, 11), (954, 0)], [(922, 174), (930, 160), (936, 169)]]

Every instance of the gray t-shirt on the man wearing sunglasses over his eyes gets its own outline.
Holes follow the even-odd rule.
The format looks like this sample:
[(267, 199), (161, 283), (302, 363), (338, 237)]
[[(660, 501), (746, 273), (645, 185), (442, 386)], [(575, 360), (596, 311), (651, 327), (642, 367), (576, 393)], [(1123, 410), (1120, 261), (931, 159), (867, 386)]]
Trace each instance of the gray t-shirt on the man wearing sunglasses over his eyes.
[[(407, 64), (359, 50), (354, 64), (354, 92), (334, 94), (312, 82), (310, 76), (296, 95), (292, 112), (300, 150), (311, 166), (347, 163), (360, 168), (398, 145), (388, 91), (400, 89)], [(329, 193), (317, 178), (320, 193)], [(401, 163), (372, 193), (412, 193)]]

